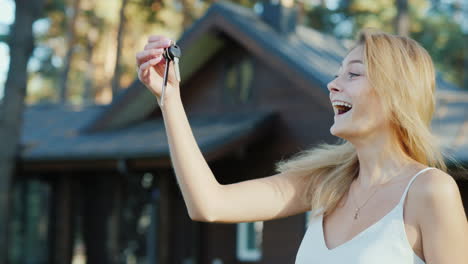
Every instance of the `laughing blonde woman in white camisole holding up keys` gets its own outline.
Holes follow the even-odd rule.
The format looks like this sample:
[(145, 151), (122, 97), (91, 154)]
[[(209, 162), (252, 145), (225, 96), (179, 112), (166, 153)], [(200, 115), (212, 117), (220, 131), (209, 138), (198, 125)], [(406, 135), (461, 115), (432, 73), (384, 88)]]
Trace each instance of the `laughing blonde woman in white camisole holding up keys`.
[[(138, 76), (160, 100), (171, 41), (151, 36)], [(213, 176), (169, 74), (162, 114), (172, 164), (193, 220), (237, 223), (312, 210), (296, 257), (312, 263), (468, 263), (460, 191), (429, 130), (435, 73), (415, 41), (363, 31), (328, 84), (330, 132), (343, 139), (277, 164), (276, 175), (229, 185)]]

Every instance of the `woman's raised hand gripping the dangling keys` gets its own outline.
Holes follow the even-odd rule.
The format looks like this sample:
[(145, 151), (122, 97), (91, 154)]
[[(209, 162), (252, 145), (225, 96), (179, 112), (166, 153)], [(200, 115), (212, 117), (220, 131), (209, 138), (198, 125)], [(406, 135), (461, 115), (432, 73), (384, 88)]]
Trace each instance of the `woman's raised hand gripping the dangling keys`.
[[(164, 48), (169, 47), (172, 43), (169, 38), (164, 36), (150, 36), (144, 50), (136, 54), (138, 78), (156, 96), (159, 104), (166, 67), (166, 60), (162, 54)], [(164, 100), (178, 92), (179, 82), (175, 77), (174, 65), (171, 62)]]

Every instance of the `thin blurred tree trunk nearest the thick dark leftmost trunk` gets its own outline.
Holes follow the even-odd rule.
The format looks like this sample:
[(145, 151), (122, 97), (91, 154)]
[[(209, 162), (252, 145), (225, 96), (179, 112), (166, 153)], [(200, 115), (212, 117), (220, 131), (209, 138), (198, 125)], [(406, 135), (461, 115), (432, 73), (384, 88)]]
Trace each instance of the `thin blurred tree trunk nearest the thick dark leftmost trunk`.
[(73, 50), (75, 47), (76, 42), (76, 34), (75, 34), (75, 27), (76, 27), (76, 18), (78, 17), (78, 11), (80, 9), (80, 1), (81, 0), (74, 0), (73, 2), (73, 14), (70, 19), (69, 23), (69, 30), (67, 34), (67, 54), (65, 55), (64, 59), (64, 67), (63, 72), (60, 76), (60, 84), (59, 84), (59, 94), (60, 94), (60, 102), (65, 103), (67, 100), (67, 90), (68, 90), (68, 73), (70, 72), (71, 61), (73, 57)]

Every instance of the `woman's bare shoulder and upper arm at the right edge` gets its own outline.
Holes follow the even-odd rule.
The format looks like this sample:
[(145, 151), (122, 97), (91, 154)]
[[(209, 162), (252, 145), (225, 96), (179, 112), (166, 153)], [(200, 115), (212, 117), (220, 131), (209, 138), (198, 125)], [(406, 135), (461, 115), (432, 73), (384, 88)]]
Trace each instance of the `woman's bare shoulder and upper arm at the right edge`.
[(433, 169), (419, 175), (414, 183), (412, 200), (417, 206), (412, 208), (426, 263), (466, 263), (468, 224), (455, 179)]

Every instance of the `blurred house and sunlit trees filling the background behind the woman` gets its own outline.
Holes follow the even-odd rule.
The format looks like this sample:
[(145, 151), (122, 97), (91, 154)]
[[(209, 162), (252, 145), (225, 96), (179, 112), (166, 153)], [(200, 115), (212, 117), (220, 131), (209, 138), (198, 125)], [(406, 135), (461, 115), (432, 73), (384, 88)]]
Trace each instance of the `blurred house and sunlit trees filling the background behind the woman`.
[[(180, 41), (195, 135), (230, 183), (333, 140), (330, 118), (303, 114), (329, 106), (266, 87), (312, 87), (304, 98), (321, 105), (364, 27), (427, 49), (443, 88), (433, 128), (468, 161), (468, 0), (0, 0), (0, 263), (293, 263), (303, 216), (269, 227), (188, 218), (135, 53), (150, 35)], [(233, 175), (263, 153), (256, 175)]]

